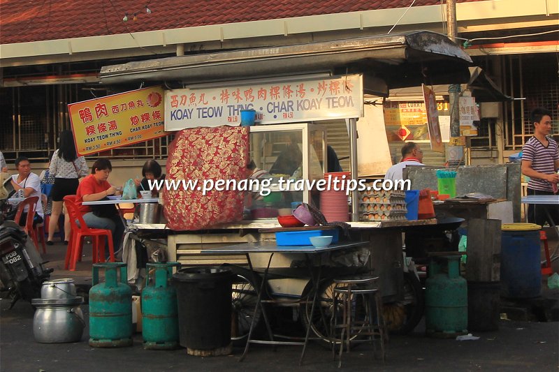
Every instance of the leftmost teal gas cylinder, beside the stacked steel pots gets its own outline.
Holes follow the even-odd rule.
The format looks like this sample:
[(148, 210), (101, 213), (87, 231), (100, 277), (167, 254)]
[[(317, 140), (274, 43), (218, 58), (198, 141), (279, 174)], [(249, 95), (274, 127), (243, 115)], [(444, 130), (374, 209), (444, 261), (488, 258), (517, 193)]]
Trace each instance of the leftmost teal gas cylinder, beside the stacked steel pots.
[[(103, 283), (99, 283), (99, 269), (105, 269)], [(89, 290), (90, 346), (120, 348), (132, 345), (132, 290), (126, 277), (125, 263), (93, 265), (93, 287)]]

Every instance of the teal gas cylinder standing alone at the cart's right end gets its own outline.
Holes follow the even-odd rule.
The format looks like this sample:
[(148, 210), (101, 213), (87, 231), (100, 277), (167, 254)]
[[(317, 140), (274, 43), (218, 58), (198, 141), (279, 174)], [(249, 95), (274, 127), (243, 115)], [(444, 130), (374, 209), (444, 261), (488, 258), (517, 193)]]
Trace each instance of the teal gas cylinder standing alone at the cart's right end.
[(467, 333), (467, 282), (460, 276), (460, 255), (432, 258), (425, 304), (428, 334)]

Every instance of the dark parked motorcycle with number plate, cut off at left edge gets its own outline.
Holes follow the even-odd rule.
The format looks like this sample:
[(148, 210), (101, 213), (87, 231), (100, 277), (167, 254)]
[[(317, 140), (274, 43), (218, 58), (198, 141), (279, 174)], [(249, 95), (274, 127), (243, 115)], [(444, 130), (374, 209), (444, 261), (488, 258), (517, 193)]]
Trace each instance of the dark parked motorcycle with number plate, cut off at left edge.
[[(4, 174), (1, 178), (5, 178)], [(18, 299), (31, 302), (31, 299), (41, 297), (43, 281), (50, 278), (53, 269), (43, 266), (45, 262), (22, 227), (14, 221), (5, 220), (9, 209), (9, 192), (6, 191), (8, 187), (4, 186), (7, 185), (2, 180), (0, 197), (4, 198), (0, 199), (0, 281), (2, 290), (12, 300), (10, 308), (13, 308)]]

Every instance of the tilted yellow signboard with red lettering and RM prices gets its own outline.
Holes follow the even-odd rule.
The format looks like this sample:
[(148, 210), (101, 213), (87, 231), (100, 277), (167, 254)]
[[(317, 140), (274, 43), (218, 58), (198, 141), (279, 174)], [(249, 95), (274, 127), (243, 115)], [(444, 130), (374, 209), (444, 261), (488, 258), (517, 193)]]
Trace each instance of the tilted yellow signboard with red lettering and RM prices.
[(151, 87), (68, 105), (78, 154), (166, 135), (163, 94), (161, 87)]

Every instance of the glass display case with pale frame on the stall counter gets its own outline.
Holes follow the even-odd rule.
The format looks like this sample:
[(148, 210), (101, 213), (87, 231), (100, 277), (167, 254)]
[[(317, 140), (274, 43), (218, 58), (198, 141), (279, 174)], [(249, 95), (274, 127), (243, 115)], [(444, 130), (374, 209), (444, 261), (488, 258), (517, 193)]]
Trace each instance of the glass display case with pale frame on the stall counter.
[(318, 205), (319, 193), (313, 191), (308, 181), (318, 181), (326, 172), (325, 126), (309, 123), (251, 126), (250, 158), (250, 177), (272, 181), (267, 187), (268, 195), (253, 190), (247, 197), (246, 219), (290, 214), (297, 202), (308, 203), (311, 198)]

